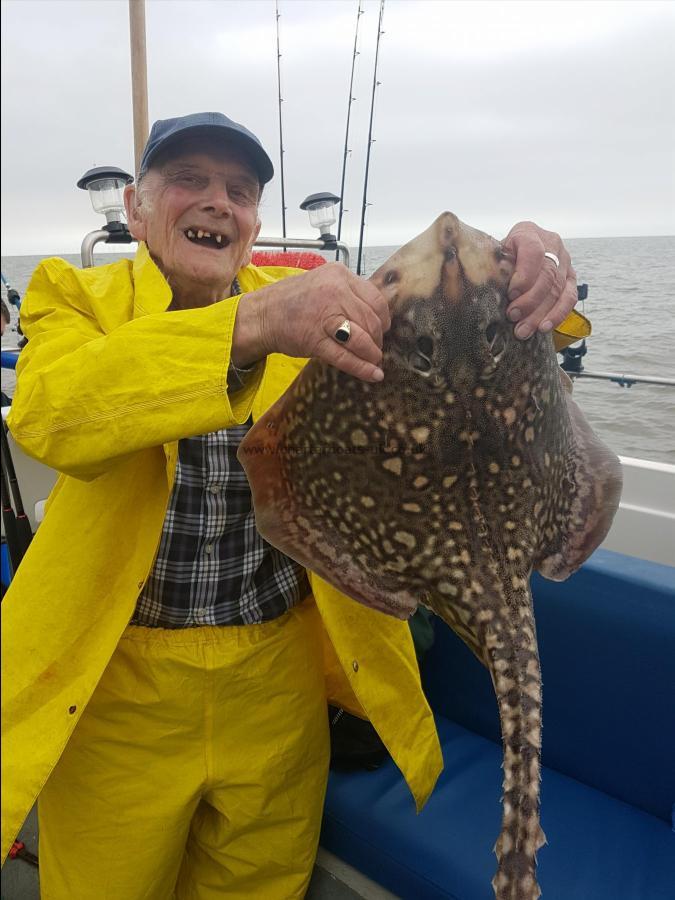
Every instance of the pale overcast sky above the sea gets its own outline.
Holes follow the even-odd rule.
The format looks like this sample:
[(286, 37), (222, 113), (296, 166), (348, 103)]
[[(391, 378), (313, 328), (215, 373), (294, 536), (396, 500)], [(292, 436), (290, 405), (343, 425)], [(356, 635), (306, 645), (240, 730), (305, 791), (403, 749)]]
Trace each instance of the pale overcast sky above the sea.
[[(379, 2), (362, 0), (343, 237), (358, 241)], [(357, 0), (280, 0), (288, 233), (339, 192)], [(275, 6), (146, 0), (151, 122), (220, 110), (277, 176)], [(675, 3), (387, 0), (366, 244), (449, 209), (503, 237), (675, 234)], [(103, 220), (75, 182), (133, 171), (127, 0), (2, 2), (2, 252), (73, 253)]]

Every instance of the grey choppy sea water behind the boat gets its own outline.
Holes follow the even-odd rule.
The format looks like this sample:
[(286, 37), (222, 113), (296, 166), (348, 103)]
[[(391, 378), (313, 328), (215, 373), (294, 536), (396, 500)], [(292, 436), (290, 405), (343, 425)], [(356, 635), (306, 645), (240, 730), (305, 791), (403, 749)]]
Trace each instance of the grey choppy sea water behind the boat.
[[(675, 237), (579, 238), (565, 244), (578, 282), (588, 284), (588, 299), (577, 307), (593, 325), (583, 360), (586, 370), (675, 379)], [(365, 274), (374, 272), (396, 249), (367, 249)], [(2, 257), (3, 275), (21, 296), (43, 258)], [(116, 258), (100, 253), (96, 263)], [(64, 259), (80, 265), (78, 256)], [(3, 347), (17, 340), (14, 307), (11, 314)], [(13, 390), (13, 373), (7, 370), (3, 390), (10, 394)], [(626, 388), (578, 379), (574, 396), (615, 453), (675, 463), (675, 387)]]

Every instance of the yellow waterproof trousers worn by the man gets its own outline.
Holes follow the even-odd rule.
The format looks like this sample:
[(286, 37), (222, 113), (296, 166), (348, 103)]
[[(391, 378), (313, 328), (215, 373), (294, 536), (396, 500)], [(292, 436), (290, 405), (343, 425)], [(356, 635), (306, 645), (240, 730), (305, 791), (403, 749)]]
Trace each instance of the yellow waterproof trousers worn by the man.
[(303, 897), (329, 741), (318, 613), (130, 626), (38, 803), (43, 900)]

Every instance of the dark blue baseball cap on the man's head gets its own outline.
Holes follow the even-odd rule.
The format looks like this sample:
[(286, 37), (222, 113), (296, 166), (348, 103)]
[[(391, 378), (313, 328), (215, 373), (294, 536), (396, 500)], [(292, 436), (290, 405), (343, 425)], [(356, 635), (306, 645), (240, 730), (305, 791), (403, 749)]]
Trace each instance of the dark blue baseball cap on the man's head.
[(222, 138), (224, 144), (240, 150), (258, 175), (260, 184), (267, 184), (274, 175), (274, 166), (258, 138), (243, 125), (233, 122), (222, 113), (191, 113), (176, 119), (159, 119), (152, 126), (145, 145), (139, 175), (145, 174), (158, 153), (178, 143), (182, 138), (206, 135)]

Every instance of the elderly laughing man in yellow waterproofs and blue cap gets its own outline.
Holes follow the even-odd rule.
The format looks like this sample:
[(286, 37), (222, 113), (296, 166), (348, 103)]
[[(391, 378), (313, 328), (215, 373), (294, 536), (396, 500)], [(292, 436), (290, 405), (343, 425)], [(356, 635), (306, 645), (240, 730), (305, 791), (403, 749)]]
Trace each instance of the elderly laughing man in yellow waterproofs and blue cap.
[[(405, 623), (255, 531), (251, 419), (306, 357), (381, 380), (390, 324), (342, 265), (250, 265), (272, 174), (221, 114), (157, 122), (126, 194), (134, 261), (47, 260), (25, 297), (10, 426), (62, 475), (3, 604), (3, 848), (40, 794), (50, 900), (302, 897), (327, 697), (372, 721), (418, 806), (442, 765)], [(509, 241), (512, 319), (550, 330), (569, 257), (528, 223)]]

